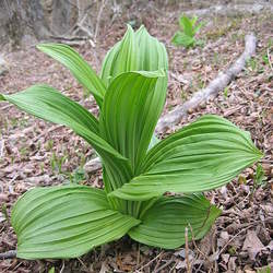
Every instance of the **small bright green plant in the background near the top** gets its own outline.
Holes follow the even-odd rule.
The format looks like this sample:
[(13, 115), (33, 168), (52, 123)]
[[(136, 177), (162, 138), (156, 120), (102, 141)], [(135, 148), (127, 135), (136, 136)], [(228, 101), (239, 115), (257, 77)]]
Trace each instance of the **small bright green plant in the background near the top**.
[(197, 45), (203, 45), (203, 41), (195, 39), (195, 34), (203, 26), (202, 23), (197, 24), (198, 16), (192, 19), (182, 15), (179, 19), (180, 31), (176, 32), (171, 38), (171, 43), (176, 46), (194, 47)]

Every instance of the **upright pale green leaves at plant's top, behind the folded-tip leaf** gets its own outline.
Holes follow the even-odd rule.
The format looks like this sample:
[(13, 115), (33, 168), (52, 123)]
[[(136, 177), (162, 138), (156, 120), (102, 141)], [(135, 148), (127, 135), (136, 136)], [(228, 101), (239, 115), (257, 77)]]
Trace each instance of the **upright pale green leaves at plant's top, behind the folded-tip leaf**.
[(152, 98), (153, 105), (156, 105), (152, 107), (153, 115), (158, 119), (166, 99), (168, 57), (165, 46), (152, 37), (143, 25), (135, 33), (131, 26), (128, 26), (122, 40), (117, 43), (106, 56), (102, 79), (108, 86), (115, 76), (123, 72), (158, 70), (166, 71), (165, 76), (157, 80)]

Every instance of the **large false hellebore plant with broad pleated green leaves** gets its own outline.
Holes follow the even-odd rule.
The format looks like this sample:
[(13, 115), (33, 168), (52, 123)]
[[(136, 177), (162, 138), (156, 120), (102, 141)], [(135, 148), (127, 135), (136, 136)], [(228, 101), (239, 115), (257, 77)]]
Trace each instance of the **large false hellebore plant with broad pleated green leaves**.
[(69, 46), (38, 49), (94, 96), (99, 117), (46, 85), (0, 99), (87, 141), (102, 159), (105, 189), (70, 185), (27, 191), (11, 215), (17, 257), (79, 257), (126, 234), (174, 249), (183, 245), (186, 227), (192, 230), (189, 239), (202, 238), (221, 210), (201, 192), (227, 183), (262, 156), (249, 133), (207, 115), (162, 141), (154, 136), (168, 62), (164, 45), (143, 26), (135, 33), (129, 27), (109, 50), (100, 76)]

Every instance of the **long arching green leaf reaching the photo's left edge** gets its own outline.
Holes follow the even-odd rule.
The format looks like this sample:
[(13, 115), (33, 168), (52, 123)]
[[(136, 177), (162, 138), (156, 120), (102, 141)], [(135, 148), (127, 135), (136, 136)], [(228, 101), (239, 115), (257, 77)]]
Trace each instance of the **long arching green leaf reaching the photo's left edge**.
[(78, 103), (46, 85), (34, 85), (0, 99), (41, 119), (64, 124), (85, 139), (100, 155), (110, 176), (108, 189), (117, 189), (132, 177), (129, 161), (99, 135), (97, 119)]

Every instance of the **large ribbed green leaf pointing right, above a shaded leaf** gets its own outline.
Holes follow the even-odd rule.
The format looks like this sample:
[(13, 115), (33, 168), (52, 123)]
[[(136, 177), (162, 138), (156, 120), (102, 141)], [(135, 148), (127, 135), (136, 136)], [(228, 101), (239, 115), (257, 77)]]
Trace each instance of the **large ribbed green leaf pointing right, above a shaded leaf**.
[(207, 115), (156, 144), (140, 175), (111, 194), (140, 201), (166, 191), (215, 189), (261, 156), (248, 133), (224, 118)]

